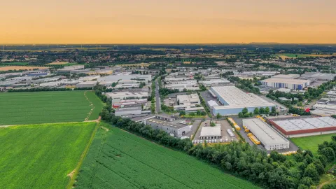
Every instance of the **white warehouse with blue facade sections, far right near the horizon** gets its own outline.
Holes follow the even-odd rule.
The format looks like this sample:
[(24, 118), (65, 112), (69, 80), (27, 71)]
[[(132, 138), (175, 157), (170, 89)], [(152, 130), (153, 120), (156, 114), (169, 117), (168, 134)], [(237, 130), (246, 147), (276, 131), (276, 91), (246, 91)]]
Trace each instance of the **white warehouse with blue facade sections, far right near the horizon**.
[(310, 85), (309, 80), (293, 78), (267, 78), (259, 81), (262, 85), (276, 88), (288, 88), (291, 90), (303, 90)]

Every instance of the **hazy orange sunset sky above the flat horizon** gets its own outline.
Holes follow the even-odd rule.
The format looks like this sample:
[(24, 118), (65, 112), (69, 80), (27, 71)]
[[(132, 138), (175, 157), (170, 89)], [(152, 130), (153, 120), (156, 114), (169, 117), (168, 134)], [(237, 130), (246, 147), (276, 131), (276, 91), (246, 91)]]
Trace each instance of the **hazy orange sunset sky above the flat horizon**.
[(3, 43), (336, 43), (335, 0), (1, 0)]

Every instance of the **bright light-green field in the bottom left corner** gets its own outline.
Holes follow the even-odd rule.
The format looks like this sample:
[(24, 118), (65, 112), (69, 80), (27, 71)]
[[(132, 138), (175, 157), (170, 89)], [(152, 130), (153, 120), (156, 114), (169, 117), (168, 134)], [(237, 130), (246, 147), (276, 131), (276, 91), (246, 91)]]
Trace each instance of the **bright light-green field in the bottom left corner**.
[(0, 188), (65, 188), (96, 124), (0, 127)]

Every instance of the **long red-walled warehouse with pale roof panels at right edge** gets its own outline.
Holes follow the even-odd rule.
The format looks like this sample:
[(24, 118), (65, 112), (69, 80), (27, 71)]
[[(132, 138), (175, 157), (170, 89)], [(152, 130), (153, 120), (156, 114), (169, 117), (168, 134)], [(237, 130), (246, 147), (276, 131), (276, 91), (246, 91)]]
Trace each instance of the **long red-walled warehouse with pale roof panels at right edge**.
[(336, 132), (336, 119), (331, 117), (276, 118), (268, 122), (288, 138)]

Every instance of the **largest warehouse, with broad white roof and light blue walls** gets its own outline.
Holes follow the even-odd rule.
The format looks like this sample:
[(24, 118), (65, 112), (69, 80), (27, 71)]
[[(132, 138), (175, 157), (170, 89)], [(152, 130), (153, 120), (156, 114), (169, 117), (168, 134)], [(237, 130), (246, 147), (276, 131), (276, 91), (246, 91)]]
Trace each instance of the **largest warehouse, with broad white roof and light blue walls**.
[(210, 90), (222, 104), (221, 106), (213, 106), (212, 113), (214, 115), (217, 113), (222, 116), (237, 115), (244, 108), (247, 108), (248, 112), (253, 112), (255, 108), (269, 107), (272, 109), (272, 106), (275, 106), (258, 95), (243, 92), (235, 86), (211, 87)]

